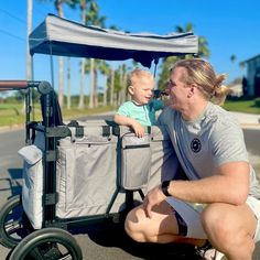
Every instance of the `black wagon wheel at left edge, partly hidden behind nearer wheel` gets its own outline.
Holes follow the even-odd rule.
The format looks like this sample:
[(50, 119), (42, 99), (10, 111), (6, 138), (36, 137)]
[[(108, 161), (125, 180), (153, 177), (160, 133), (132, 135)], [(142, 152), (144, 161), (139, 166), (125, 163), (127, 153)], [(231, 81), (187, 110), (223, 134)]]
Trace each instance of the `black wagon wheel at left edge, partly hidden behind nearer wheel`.
[(13, 248), (26, 236), (23, 214), (20, 195), (9, 198), (0, 208), (0, 243), (4, 247)]

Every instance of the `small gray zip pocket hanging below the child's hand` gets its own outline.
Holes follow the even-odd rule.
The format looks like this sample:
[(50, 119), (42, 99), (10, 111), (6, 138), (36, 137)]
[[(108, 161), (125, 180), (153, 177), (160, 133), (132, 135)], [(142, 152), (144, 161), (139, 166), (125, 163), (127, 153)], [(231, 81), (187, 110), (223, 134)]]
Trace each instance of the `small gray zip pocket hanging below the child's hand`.
[(152, 159), (149, 136), (123, 136), (121, 143), (121, 186), (130, 191), (145, 187)]

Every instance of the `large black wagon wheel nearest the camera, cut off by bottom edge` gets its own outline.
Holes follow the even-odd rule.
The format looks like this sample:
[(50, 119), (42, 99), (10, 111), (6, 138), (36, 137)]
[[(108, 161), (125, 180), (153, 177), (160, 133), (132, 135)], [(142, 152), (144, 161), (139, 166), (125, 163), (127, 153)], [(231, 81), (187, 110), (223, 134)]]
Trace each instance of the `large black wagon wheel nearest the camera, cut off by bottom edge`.
[(9, 260), (82, 260), (76, 239), (61, 228), (43, 228), (26, 236), (12, 251)]

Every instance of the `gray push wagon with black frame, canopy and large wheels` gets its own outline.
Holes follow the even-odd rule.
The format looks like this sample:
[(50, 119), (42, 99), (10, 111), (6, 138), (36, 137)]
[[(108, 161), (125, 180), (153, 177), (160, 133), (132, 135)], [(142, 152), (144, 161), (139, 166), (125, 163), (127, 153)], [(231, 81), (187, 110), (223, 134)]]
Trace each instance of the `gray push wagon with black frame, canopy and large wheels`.
[[(133, 58), (143, 66), (159, 58), (197, 53), (192, 33), (158, 35), (84, 26), (53, 14), (29, 36), (30, 53)], [(25, 145), (21, 195), (0, 209), (0, 242), (11, 260), (83, 259), (72, 235), (95, 221), (123, 221), (152, 186), (171, 178), (175, 156), (163, 126), (147, 128), (143, 138), (108, 120), (65, 122), (52, 84), (0, 80), (2, 90), (25, 93)], [(31, 89), (40, 93), (42, 120), (33, 121)], [(142, 158), (141, 163), (138, 158)]]

